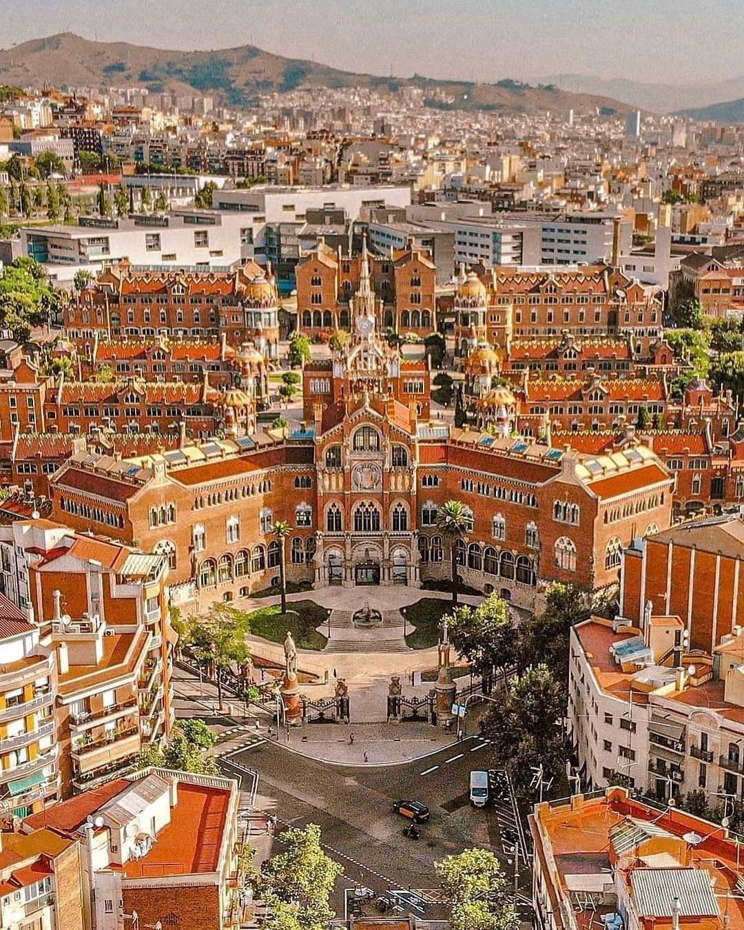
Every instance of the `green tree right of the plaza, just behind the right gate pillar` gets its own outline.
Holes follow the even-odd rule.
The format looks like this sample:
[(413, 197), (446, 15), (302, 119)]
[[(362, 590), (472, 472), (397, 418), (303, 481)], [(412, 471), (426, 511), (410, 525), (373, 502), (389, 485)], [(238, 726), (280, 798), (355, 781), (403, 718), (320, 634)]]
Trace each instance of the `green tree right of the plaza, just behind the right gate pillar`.
[(494, 668), (503, 672), (516, 663), (519, 634), (498, 594), (477, 607), (458, 607), (446, 620), (452, 644), (478, 674), (490, 676)]

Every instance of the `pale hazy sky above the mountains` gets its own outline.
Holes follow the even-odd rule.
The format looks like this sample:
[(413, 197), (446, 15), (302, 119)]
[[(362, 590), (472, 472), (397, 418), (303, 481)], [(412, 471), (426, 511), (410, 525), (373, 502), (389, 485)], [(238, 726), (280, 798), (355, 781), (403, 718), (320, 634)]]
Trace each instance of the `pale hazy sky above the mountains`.
[(744, 0), (0, 0), (0, 45), (72, 31), (166, 48), (248, 42), (352, 71), (498, 80), (737, 76)]

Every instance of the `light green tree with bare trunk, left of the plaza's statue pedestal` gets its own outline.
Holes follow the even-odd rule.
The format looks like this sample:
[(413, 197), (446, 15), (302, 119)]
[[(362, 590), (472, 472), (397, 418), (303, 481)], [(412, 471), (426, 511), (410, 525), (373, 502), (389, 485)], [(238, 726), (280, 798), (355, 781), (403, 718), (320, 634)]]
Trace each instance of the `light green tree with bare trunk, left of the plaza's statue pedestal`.
[(219, 710), (222, 710), (222, 676), (233, 662), (243, 664), (248, 658), (246, 614), (230, 604), (212, 604), (202, 617), (186, 621), (185, 642), (193, 648), (200, 663), (211, 670), (217, 683)]

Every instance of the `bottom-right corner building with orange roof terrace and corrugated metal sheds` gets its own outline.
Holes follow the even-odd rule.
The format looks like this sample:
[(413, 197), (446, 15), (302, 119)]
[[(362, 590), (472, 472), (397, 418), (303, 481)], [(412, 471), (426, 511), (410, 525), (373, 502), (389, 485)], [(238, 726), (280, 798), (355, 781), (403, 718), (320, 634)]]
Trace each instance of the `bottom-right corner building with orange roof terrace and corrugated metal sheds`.
[(532, 899), (539, 930), (741, 930), (738, 839), (611, 787), (537, 804)]

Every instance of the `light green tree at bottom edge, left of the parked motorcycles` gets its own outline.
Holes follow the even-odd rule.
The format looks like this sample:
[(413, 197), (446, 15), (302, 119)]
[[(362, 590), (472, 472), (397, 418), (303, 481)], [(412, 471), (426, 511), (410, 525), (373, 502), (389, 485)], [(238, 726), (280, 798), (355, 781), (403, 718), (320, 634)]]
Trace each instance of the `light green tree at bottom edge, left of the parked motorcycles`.
[(302, 930), (326, 930), (333, 919), (328, 902), (343, 867), (326, 856), (317, 824), (285, 830), (279, 839), (283, 851), (261, 870), (267, 897), (296, 908)]

